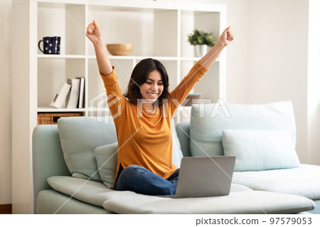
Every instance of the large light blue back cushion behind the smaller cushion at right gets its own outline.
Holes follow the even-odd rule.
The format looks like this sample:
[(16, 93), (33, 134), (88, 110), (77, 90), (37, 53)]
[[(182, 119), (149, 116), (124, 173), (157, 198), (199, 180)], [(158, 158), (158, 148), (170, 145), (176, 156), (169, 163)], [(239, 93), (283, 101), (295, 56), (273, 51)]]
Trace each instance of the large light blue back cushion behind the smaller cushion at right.
[(193, 156), (223, 155), (223, 130), (286, 130), (296, 144), (296, 125), (292, 102), (265, 105), (204, 104), (191, 110), (191, 142)]

